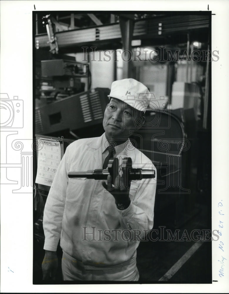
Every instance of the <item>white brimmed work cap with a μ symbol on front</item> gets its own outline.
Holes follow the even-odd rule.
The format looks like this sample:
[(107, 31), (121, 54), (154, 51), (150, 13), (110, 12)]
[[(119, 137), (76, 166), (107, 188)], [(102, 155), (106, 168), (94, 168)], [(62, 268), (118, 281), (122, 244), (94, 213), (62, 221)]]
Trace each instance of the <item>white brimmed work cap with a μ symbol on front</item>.
[(146, 112), (151, 99), (151, 93), (142, 83), (133, 78), (114, 81), (111, 85), (111, 93), (108, 97), (117, 98), (137, 110)]

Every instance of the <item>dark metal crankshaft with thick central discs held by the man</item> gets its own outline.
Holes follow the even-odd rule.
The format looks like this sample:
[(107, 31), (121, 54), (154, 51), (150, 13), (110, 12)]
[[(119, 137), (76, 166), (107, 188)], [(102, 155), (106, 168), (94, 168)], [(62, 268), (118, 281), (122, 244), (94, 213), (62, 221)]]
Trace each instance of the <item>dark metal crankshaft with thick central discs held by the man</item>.
[[(123, 158), (122, 171), (124, 186), (130, 187), (130, 181), (141, 180), (155, 177), (155, 170), (145, 168), (132, 168), (132, 160), (130, 157)], [(116, 176), (119, 174), (118, 158), (111, 158), (108, 162), (107, 169), (95, 169), (89, 171), (69, 172), (69, 178), (88, 178), (95, 180), (106, 180), (108, 175), (111, 175), (113, 183)]]

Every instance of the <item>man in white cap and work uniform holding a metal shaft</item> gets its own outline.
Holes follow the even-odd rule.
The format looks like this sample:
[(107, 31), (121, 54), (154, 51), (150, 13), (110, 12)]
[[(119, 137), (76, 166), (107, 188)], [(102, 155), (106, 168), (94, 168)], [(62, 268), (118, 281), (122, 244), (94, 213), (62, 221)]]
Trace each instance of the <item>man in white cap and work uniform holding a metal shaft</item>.
[[(156, 177), (123, 183), (122, 159), (155, 169), (128, 139), (144, 123), (148, 89), (134, 79), (115, 81), (103, 119), (105, 133), (71, 143), (61, 160), (44, 209), (43, 278), (54, 279), (56, 248), (63, 250), (64, 280), (137, 281), (136, 249), (153, 228)], [(118, 157), (119, 175), (107, 183), (68, 178), (68, 172), (105, 169)], [(156, 169), (155, 169), (156, 172)]]

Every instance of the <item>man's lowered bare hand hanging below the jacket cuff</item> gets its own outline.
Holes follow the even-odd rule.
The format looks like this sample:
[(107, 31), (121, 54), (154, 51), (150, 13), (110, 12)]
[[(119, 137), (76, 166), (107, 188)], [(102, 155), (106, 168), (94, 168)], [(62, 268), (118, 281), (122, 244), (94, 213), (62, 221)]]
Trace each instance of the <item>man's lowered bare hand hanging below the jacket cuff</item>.
[(56, 251), (45, 250), (42, 262), (43, 280), (55, 280), (58, 258)]

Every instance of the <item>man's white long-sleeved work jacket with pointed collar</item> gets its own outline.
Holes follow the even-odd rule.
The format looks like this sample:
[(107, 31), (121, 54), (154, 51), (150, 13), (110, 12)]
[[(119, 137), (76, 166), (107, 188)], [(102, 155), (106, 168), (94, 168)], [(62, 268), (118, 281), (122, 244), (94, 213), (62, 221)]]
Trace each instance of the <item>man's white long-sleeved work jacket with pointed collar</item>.
[[(132, 181), (131, 204), (118, 210), (114, 197), (100, 180), (68, 178), (69, 171), (102, 169), (102, 139), (71, 143), (61, 160), (47, 197), (43, 227), (44, 249), (64, 252), (87, 269), (114, 268), (136, 259), (140, 238), (153, 228), (156, 177)], [(153, 163), (128, 141), (122, 157), (131, 157), (133, 168), (155, 169)]]

